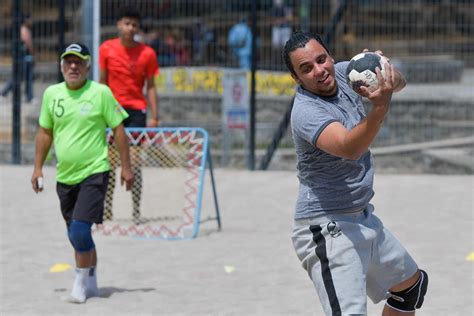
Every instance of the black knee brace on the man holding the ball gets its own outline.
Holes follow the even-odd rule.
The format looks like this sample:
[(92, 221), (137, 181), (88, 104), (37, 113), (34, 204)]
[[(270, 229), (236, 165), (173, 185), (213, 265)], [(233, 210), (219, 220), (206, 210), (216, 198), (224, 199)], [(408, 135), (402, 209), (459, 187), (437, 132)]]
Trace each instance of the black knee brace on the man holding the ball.
[(390, 292), (387, 305), (404, 312), (413, 312), (420, 308), (428, 288), (428, 274), (423, 270), (420, 270), (420, 273), (420, 277), (410, 288), (400, 292)]

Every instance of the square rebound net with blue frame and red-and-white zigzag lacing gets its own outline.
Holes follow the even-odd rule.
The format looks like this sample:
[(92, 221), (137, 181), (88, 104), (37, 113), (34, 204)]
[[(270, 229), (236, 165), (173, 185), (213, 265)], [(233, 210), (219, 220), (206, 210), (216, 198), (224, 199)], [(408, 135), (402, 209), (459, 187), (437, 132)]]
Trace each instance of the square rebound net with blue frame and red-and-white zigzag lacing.
[(135, 175), (131, 192), (120, 187), (120, 159), (108, 133), (112, 172), (104, 222), (96, 233), (180, 239), (198, 230), (207, 158), (207, 133), (199, 128), (129, 128)]

